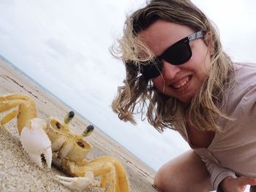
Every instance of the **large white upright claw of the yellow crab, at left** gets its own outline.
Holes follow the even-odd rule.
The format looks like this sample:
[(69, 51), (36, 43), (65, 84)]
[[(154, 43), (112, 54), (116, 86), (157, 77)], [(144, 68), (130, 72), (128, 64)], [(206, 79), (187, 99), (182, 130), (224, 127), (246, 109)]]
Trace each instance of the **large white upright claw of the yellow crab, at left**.
[(31, 126), (25, 126), (20, 133), (20, 142), (26, 153), (29, 153), (31, 159), (42, 168), (41, 155), (45, 157), (46, 164), (50, 169), (52, 161), (51, 142), (44, 129), (46, 127), (45, 120), (34, 118), (31, 120)]

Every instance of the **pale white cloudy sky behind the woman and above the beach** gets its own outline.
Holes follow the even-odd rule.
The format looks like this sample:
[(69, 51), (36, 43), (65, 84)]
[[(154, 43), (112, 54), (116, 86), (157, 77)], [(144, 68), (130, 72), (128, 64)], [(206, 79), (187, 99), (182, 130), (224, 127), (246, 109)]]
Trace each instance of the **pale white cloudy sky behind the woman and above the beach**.
[[(4, 56), (155, 170), (189, 147), (174, 131), (123, 123), (111, 111), (124, 66), (108, 52), (143, 0), (0, 0)], [(236, 61), (256, 62), (254, 0), (194, 0)]]

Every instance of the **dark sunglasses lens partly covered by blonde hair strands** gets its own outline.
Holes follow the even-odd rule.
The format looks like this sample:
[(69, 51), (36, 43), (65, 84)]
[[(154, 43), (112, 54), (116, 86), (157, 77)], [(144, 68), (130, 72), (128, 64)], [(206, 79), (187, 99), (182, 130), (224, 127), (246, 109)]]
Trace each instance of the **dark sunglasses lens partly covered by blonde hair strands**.
[(151, 79), (159, 76), (163, 69), (162, 61), (155, 58), (154, 61), (150, 61), (147, 64), (142, 64), (140, 66), (140, 72), (147, 79)]

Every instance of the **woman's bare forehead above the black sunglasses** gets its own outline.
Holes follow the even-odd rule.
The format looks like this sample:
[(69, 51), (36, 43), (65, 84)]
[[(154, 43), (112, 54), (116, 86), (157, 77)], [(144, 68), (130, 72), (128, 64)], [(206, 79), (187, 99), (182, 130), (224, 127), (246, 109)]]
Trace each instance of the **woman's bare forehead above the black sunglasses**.
[(194, 31), (188, 26), (170, 23), (166, 20), (157, 20), (146, 30), (141, 31), (138, 38), (149, 47), (154, 55), (159, 55), (167, 47), (192, 33)]

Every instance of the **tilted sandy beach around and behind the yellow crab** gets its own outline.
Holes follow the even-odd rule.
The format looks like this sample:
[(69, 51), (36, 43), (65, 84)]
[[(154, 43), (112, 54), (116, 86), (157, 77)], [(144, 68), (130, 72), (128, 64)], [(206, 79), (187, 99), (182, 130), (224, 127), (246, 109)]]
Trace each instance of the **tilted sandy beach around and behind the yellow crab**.
[[(62, 120), (64, 115), (72, 110), (3, 59), (0, 59), (0, 93), (25, 93), (31, 96), (36, 102), (39, 118), (42, 119), (53, 116)], [(91, 123), (76, 114), (71, 128), (81, 133), (89, 124)], [(21, 147), (15, 120), (8, 123), (7, 127), (10, 128), (10, 133), (0, 128), (0, 191), (72, 191), (56, 180), (56, 174), (65, 174), (55, 166), (50, 170), (46, 166), (39, 169), (31, 161)], [(110, 155), (121, 161), (127, 170), (129, 191), (157, 191), (152, 186), (154, 170), (110, 139), (99, 128), (94, 129), (88, 141), (94, 146), (88, 155), (89, 159)], [(91, 186), (85, 191), (102, 190)]]

